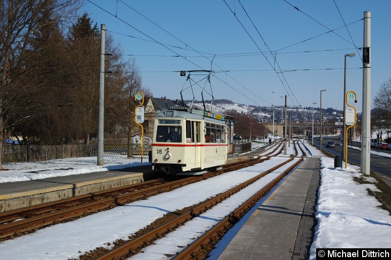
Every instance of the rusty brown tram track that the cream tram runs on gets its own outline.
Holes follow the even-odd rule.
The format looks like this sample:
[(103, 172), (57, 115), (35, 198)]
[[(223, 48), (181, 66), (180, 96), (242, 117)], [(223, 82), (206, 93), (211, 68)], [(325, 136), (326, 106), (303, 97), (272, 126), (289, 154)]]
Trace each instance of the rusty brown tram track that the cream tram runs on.
[[(191, 176), (174, 181), (156, 179), (106, 191), (80, 195), (69, 199), (25, 207), (22, 209), (0, 213), (0, 240), (28, 234), (57, 223), (63, 223), (75, 218), (85, 217), (98, 211), (111, 209), (116, 206), (130, 203), (137, 199), (168, 192), (184, 185), (194, 183), (218, 174), (248, 167), (270, 159), (270, 154), (276, 152), (282, 144), (273, 151), (266, 153), (262, 158), (257, 157), (235, 164), (225, 165), (221, 170), (203, 175)], [(280, 149), (279, 153), (282, 152)]]

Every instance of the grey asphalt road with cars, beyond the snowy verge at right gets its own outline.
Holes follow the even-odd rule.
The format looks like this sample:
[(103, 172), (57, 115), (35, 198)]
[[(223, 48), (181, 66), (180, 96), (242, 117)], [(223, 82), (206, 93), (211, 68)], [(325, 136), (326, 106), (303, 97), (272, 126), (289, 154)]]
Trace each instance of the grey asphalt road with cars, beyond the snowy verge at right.
[[(334, 141), (335, 148), (326, 148), (327, 141)], [(311, 143), (311, 141), (308, 141)], [(350, 142), (349, 144), (350, 145)], [(319, 147), (319, 141), (314, 139), (314, 146)], [(360, 143), (353, 142), (353, 146), (360, 146)], [(371, 148), (372, 151), (378, 151), (377, 148)], [(334, 155), (342, 155), (342, 141), (338, 140), (338, 137), (322, 138), (322, 151), (329, 152)], [(390, 150), (382, 150), (379, 149), (379, 152), (387, 152), (391, 154)], [(357, 151), (354, 149), (348, 149), (348, 163), (356, 164), (358, 166), (361, 165), (361, 151)], [(342, 167), (345, 167), (345, 162), (342, 162)], [(378, 175), (381, 179), (384, 180), (391, 187), (391, 158), (381, 157), (374, 154), (370, 154), (370, 170), (372, 170), (376, 175)]]

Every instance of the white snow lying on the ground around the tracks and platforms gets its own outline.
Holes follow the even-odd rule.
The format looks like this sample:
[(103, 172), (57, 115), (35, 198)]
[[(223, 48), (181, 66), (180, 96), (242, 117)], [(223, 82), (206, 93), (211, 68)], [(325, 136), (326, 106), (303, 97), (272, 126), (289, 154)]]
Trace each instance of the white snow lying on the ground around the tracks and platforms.
[[(255, 144), (253, 149), (260, 145)], [(358, 184), (353, 181), (353, 178), (362, 176), (359, 167), (348, 164), (347, 169), (335, 169), (332, 158), (326, 157), (323, 153), (309, 145), (306, 145), (306, 147), (312, 156), (320, 157), (321, 160), (321, 183), (315, 212), (318, 224), (315, 227), (315, 236), (310, 249), (310, 259), (316, 259), (316, 248), (389, 248), (391, 243), (391, 216), (387, 211), (379, 208), (380, 203), (373, 196), (368, 195), (367, 192), (367, 189), (377, 191), (373, 184), (375, 180), (371, 177), (366, 177), (367, 184)], [(289, 156), (290, 153), (293, 153), (293, 145), (287, 148), (286, 156)], [(125, 156), (114, 157), (116, 159), (111, 159), (108, 165), (119, 165), (118, 167), (122, 167), (122, 165), (126, 164), (128, 167), (131, 167), (129, 159), (126, 159)], [(169, 193), (155, 195), (109, 211), (53, 225), (29, 235), (0, 242), (1, 258), (4, 260), (66, 260), (78, 258), (81, 253), (93, 250), (98, 246), (110, 248), (112, 241), (119, 238), (127, 238), (167, 212), (196, 204), (212, 195), (222, 193), (234, 185), (252, 178), (259, 172), (282, 162), (282, 160), (286, 159), (284, 157), (276, 156), (263, 163), (238, 171), (224, 173), (214, 178), (181, 187)], [(112, 158), (112, 156), (109, 156), (109, 158)], [(134, 160), (134, 163), (140, 163), (137, 162), (137, 159)], [(81, 163), (82, 161), (85, 161), (85, 163)], [(41, 169), (47, 170), (44, 171), (47, 174), (46, 177), (51, 177), (53, 172), (56, 172), (54, 168), (65, 168), (66, 166), (70, 168), (75, 167), (75, 173), (79, 171), (80, 174), (83, 174), (87, 173), (88, 169), (95, 171), (96, 168), (92, 161), (96, 162), (96, 157), (79, 158), (79, 163), (60, 159), (42, 162), (39, 166), (36, 163), (24, 163), (23, 165), (5, 164), (4, 166), (10, 170), (1, 171), (1, 174), (8, 172), (20, 175), (21, 172), (18, 172), (18, 170), (27, 172), (31, 169)], [(143, 164), (147, 165), (148, 163)], [(288, 166), (284, 167), (287, 168)], [(205, 227), (212, 226), (217, 219), (229, 214), (244, 199), (258, 192), (284, 169), (278, 169), (266, 175), (267, 177), (261, 178), (246, 189), (231, 196), (212, 210), (205, 212), (192, 221), (188, 221), (186, 225), (176, 229), (167, 237), (146, 247), (144, 254), (135, 255), (132, 259), (154, 260), (166, 258), (163, 256), (164, 254), (175, 254), (178, 246), (184, 246), (200, 236), (200, 232), (204, 231)], [(286, 178), (288, 177), (289, 175), (286, 176)], [(222, 183), (224, 185), (221, 185)], [(198, 192), (200, 186), (202, 186), (202, 193)], [(274, 190), (270, 194), (273, 192)], [(194, 196), (194, 193), (198, 195)], [(235, 235), (234, 230), (238, 230), (262, 203), (263, 200), (259, 201), (234, 226), (232, 231), (228, 232), (220, 240), (216, 245), (216, 249), (210, 253), (210, 260), (217, 259), (219, 252), (224, 250), (230, 239)]]

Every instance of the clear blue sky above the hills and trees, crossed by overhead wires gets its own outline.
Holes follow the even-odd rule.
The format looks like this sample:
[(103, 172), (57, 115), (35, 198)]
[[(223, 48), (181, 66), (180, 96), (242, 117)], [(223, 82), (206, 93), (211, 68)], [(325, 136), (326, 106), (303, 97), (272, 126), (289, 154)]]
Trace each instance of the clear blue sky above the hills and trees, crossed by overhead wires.
[[(192, 99), (178, 71), (212, 69), (212, 91), (209, 84), (205, 90), (215, 99), (260, 106), (274, 99), (281, 106), (287, 95), (289, 106), (319, 107), (326, 88), (322, 108), (342, 109), (344, 56), (355, 52), (347, 61), (347, 90), (357, 92), (361, 110), (362, 51), (356, 47), (363, 45), (364, 11), (371, 12), (371, 100), (391, 77), (389, 0), (87, 0), (83, 10), (106, 25), (125, 59), (135, 57), (155, 97), (177, 99), (184, 89)], [(200, 87), (194, 95), (200, 100)]]

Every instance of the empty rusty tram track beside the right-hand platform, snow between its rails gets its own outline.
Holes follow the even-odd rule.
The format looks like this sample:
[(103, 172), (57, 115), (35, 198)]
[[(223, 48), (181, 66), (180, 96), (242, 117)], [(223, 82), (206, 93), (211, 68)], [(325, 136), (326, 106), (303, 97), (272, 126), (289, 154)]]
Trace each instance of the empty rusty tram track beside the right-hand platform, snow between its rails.
[[(302, 156), (300, 156), (299, 159), (296, 159), (297, 162), (292, 164), (288, 169), (283, 171), (277, 178), (274, 179), (271, 183), (269, 183), (267, 186), (265, 186), (263, 189), (261, 189), (256, 195), (252, 196), (250, 199), (248, 199), (245, 203), (243, 203), (240, 207), (238, 207), (235, 211), (233, 211), (229, 216), (225, 217), (222, 221), (220, 221), (218, 224), (216, 224), (211, 230), (209, 230), (207, 233), (202, 235), (200, 238), (196, 239), (193, 243), (191, 243), (189, 246), (187, 246), (185, 249), (180, 251), (178, 255), (175, 256), (175, 259), (203, 259), (206, 254), (213, 248), (214, 244), (218, 241), (219, 238), (222, 237), (225, 232), (232, 227), (233, 224), (235, 224), (239, 219), (244, 216), (244, 214), (250, 210), (255, 203), (257, 203), (262, 196), (268, 193), (272, 187), (274, 187), (277, 183), (281, 181), (281, 179), (290, 171), (292, 171), (298, 164), (300, 164), (303, 161), (303, 155), (305, 155), (304, 151), (298, 144), (299, 149), (302, 152)], [(298, 155), (298, 149), (296, 148), (295, 144), (295, 150), (296, 154)], [(213, 199), (209, 199), (208, 201), (205, 201), (204, 203), (197, 205), (193, 207), (192, 209), (188, 210), (187, 212), (183, 213), (179, 217), (175, 217), (174, 219), (167, 221), (166, 223), (159, 225), (158, 227), (152, 229), (149, 232), (146, 232), (145, 234), (142, 234), (140, 236), (137, 236), (136, 238), (132, 238), (129, 241), (123, 242), (120, 246), (115, 247), (114, 249), (105, 252), (101, 256), (97, 256), (102, 252), (102, 249), (98, 250), (98, 252), (92, 252), (91, 254), (87, 254), (82, 256), (81, 259), (125, 259), (135, 254), (135, 252), (140, 251), (145, 246), (150, 245), (153, 243), (156, 238), (163, 237), (170, 233), (173, 229), (176, 229), (177, 227), (183, 225), (185, 222), (193, 219), (194, 217), (199, 216), (203, 212), (210, 209), (213, 205), (217, 205), (221, 201), (225, 200), (226, 198), (230, 197), (231, 195), (239, 192), (239, 190), (251, 185), (255, 181), (259, 180), (263, 176), (265, 176), (268, 173), (271, 173), (275, 171), (278, 168), (281, 168), (283, 165), (295, 160), (294, 156), (291, 156), (290, 158), (287, 158), (285, 162), (270, 168), (267, 171), (264, 171), (263, 173), (255, 176), (254, 178), (239, 184), (237, 187), (221, 194), (217, 195)], [(213, 242), (212, 242), (213, 241)], [(118, 244), (118, 243), (116, 243)], [(103, 250), (105, 251), (105, 250)]]

